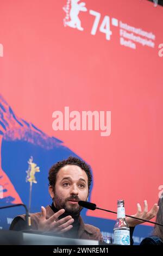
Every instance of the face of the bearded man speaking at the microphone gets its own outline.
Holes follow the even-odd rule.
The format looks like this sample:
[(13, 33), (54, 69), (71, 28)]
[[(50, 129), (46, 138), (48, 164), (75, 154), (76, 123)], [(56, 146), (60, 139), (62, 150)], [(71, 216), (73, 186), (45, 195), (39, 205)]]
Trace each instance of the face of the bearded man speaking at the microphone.
[(57, 173), (55, 189), (49, 187), (49, 193), (53, 198), (54, 206), (60, 210), (76, 216), (79, 215), (82, 207), (78, 201), (87, 200), (88, 178), (84, 170), (76, 165), (66, 165)]

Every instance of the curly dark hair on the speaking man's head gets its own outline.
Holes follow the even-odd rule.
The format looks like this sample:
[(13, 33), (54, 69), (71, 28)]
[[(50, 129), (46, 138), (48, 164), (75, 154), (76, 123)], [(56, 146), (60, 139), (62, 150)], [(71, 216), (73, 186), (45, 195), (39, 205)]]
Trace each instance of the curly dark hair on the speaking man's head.
[(70, 156), (66, 160), (62, 160), (62, 161), (59, 161), (59, 162), (53, 164), (51, 169), (49, 169), (49, 176), (48, 176), (49, 186), (52, 186), (53, 188), (55, 187), (57, 173), (59, 172), (59, 170), (62, 167), (66, 166), (68, 164), (73, 164), (73, 165), (79, 166), (82, 170), (84, 170), (86, 172), (86, 175), (88, 178), (88, 188), (90, 191), (90, 186), (91, 186), (91, 182), (92, 182), (91, 167), (88, 164), (86, 164), (84, 161), (78, 159), (77, 157), (73, 157), (73, 156)]

